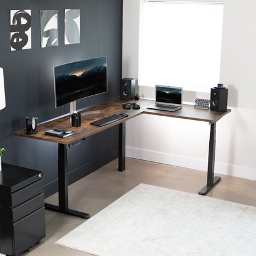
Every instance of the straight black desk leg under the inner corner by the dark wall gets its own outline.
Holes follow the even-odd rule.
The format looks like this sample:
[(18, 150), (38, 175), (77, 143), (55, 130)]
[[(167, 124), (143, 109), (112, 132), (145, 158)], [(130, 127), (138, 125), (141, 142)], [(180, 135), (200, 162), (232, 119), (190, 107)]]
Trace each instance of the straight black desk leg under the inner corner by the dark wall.
[(118, 170), (126, 169), (126, 122), (119, 124)]

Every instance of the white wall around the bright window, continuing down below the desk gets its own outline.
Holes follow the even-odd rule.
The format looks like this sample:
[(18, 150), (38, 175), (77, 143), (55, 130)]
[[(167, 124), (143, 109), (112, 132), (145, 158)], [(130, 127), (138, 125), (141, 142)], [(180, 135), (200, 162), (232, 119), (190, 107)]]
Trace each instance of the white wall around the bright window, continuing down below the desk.
[[(138, 78), (140, 1), (124, 0), (122, 77)], [(220, 82), (231, 113), (217, 122), (215, 173), (256, 180), (256, 1), (225, 0)], [(145, 98), (153, 89), (138, 87)], [(210, 98), (185, 93), (185, 101)], [(134, 129), (135, 128), (135, 129)], [(127, 122), (126, 155), (207, 170), (209, 124), (143, 114)]]

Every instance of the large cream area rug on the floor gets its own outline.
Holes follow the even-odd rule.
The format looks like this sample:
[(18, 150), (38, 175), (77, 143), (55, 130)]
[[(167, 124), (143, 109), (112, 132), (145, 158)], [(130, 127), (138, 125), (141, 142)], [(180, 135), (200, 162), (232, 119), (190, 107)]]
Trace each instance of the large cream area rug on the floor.
[(140, 184), (56, 243), (98, 256), (255, 256), (256, 207)]

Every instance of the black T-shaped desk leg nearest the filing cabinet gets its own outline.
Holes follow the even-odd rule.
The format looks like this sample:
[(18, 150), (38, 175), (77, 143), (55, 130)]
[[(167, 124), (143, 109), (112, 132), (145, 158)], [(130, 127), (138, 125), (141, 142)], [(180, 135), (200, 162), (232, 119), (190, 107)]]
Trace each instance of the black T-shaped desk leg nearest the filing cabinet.
[(45, 204), (48, 210), (80, 218), (90, 218), (89, 214), (68, 209), (68, 154), (66, 145), (60, 143), (58, 144), (58, 205)]

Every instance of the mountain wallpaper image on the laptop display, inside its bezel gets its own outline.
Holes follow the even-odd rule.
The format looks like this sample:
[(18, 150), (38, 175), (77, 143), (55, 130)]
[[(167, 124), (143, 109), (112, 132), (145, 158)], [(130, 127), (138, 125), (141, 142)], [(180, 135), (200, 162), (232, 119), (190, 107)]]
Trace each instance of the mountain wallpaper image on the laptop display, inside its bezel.
[(181, 89), (157, 87), (156, 99), (157, 102), (181, 104), (182, 92)]

